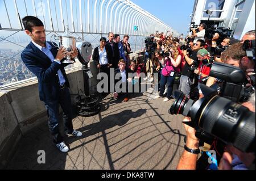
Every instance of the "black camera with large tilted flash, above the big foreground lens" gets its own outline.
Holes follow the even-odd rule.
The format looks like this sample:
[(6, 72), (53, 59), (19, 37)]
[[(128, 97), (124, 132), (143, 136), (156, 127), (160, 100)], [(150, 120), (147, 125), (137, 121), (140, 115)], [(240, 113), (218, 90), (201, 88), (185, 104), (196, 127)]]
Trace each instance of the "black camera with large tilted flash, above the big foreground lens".
[(244, 71), (236, 66), (214, 62), (210, 69), (210, 77), (222, 80), (220, 96), (224, 96), (237, 103), (247, 102), (255, 87), (246, 87), (249, 83)]

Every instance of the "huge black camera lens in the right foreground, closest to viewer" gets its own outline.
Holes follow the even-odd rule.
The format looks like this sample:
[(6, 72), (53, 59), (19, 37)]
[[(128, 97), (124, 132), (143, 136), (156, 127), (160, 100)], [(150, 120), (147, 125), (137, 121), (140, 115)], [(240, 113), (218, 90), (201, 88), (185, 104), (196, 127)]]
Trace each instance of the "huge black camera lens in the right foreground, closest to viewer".
[(176, 100), (168, 112), (191, 117), (191, 121), (183, 123), (195, 128), (200, 139), (218, 138), (243, 152), (255, 153), (255, 112), (219, 96), (210, 87), (200, 88), (204, 98), (196, 102), (176, 90)]

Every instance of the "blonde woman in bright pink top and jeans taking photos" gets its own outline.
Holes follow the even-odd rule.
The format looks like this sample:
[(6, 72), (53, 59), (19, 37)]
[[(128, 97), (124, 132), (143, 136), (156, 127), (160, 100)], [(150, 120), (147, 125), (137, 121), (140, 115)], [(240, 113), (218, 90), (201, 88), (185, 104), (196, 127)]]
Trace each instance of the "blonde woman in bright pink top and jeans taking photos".
[[(166, 89), (167, 85), (167, 96), (163, 100), (164, 102), (167, 102), (172, 98), (172, 86), (174, 83), (175, 78), (175, 72), (179, 71), (179, 65), (181, 62), (181, 56), (179, 52), (177, 51), (177, 48), (174, 46), (171, 46), (168, 48), (167, 52), (163, 52), (162, 55), (159, 56), (159, 54), (155, 53), (155, 56), (162, 58), (163, 63), (163, 69), (161, 71), (161, 79), (160, 79), (160, 93), (156, 98), (160, 98), (164, 94), (164, 90)], [(160, 59), (159, 59), (160, 60)]]

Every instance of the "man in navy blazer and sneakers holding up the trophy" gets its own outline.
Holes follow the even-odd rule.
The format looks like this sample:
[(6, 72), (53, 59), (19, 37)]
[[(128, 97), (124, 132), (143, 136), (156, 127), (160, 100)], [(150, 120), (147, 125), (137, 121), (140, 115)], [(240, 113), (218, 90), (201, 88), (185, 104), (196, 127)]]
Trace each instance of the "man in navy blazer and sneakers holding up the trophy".
[[(39, 97), (46, 105), (53, 142), (61, 152), (67, 152), (69, 148), (59, 132), (59, 104), (63, 109), (65, 133), (82, 136), (81, 132), (73, 129), (69, 82), (65, 65), (61, 63), (68, 52), (63, 47), (58, 50), (55, 45), (46, 41), (46, 30), (40, 19), (26, 16), (22, 22), (25, 32), (31, 37), (30, 44), (21, 54), (22, 61), (38, 78)], [(77, 50), (74, 47), (71, 58), (76, 56)]]

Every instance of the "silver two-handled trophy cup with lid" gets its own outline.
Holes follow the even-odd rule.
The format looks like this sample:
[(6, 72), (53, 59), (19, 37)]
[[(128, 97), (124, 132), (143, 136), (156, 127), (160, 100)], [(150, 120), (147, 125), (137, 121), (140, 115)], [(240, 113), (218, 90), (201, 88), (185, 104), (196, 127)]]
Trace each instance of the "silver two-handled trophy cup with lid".
[[(77, 38), (77, 37), (70, 36), (70, 35), (71, 35), (71, 33), (69, 32), (69, 28), (67, 26), (67, 28), (65, 28), (64, 35), (62, 35), (62, 36), (52, 35), (51, 36), (51, 42), (52, 42), (52, 37), (54, 37), (55, 40), (59, 41), (59, 47), (63, 46), (68, 51), (68, 54), (66, 56), (66, 60), (63, 61), (64, 64), (73, 64), (73, 63), (75, 63), (75, 61), (71, 60), (70, 52), (73, 51), (73, 48), (76, 48), (76, 40), (81, 40), (80, 37)], [(56, 45), (55, 45), (55, 47), (59, 48)]]

